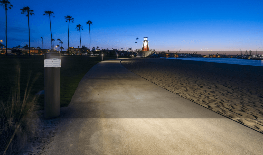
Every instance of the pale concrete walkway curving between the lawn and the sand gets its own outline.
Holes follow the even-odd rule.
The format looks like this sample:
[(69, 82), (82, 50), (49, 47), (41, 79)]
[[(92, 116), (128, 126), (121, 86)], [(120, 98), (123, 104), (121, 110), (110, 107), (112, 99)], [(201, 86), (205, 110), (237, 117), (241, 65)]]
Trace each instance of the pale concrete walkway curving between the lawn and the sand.
[(263, 134), (103, 61), (80, 81), (50, 154), (263, 154)]

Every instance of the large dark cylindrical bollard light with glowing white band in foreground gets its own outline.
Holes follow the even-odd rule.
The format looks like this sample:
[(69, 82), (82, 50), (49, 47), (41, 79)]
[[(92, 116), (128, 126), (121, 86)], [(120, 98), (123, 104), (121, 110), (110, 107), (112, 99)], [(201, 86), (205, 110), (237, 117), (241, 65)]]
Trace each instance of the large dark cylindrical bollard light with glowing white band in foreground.
[(44, 56), (44, 117), (54, 118), (60, 115), (60, 54), (45, 53)]

